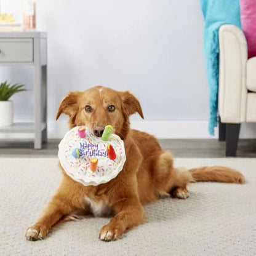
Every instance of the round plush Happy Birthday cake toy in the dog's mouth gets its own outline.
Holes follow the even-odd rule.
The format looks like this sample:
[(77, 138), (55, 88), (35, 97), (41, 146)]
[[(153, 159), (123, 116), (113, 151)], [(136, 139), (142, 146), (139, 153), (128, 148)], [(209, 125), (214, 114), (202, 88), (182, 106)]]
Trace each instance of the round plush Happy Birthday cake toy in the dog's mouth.
[(109, 182), (126, 162), (124, 142), (106, 126), (101, 138), (86, 126), (69, 130), (58, 145), (60, 164), (76, 182), (84, 186)]

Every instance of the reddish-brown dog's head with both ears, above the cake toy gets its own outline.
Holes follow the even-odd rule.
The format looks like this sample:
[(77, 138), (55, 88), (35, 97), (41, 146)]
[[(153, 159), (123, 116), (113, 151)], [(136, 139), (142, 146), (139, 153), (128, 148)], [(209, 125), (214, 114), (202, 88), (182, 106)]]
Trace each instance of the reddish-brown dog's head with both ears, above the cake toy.
[(129, 116), (136, 112), (143, 118), (140, 103), (129, 91), (96, 86), (83, 92), (70, 92), (60, 102), (56, 120), (60, 114), (68, 114), (70, 128), (87, 126), (98, 137), (111, 124), (114, 132), (124, 139), (129, 131)]

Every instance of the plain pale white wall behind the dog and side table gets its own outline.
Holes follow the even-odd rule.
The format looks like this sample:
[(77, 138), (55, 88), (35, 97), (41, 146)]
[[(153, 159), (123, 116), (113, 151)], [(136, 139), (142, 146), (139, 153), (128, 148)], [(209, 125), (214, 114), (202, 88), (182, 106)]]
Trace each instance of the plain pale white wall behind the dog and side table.
[[(20, 15), (21, 0), (4, 1)], [(208, 136), (199, 1), (38, 0), (37, 7), (38, 30), (49, 36), (50, 137), (61, 136), (58, 130), (66, 122), (54, 121), (60, 100), (70, 90), (98, 84), (132, 90), (146, 121), (204, 121)], [(32, 71), (4, 68), (0, 79), (33, 89)], [(13, 98), (17, 121), (31, 119), (31, 95)], [(191, 127), (188, 131), (193, 133)]]

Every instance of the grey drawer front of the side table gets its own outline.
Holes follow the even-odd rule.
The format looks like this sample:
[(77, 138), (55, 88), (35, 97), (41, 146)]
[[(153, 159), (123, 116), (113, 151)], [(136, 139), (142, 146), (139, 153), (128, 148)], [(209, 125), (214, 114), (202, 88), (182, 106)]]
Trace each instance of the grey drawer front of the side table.
[(1, 62), (33, 62), (33, 39), (1, 38)]

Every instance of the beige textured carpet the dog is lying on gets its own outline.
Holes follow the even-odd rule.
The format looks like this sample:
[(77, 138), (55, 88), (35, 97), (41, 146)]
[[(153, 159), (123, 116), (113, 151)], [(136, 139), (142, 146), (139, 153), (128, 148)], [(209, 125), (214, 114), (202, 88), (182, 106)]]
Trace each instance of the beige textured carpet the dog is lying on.
[(256, 255), (256, 159), (176, 159), (176, 166), (223, 165), (245, 185), (196, 183), (190, 198), (146, 207), (148, 223), (115, 242), (97, 239), (108, 218), (57, 226), (43, 241), (25, 239), (60, 180), (57, 158), (0, 158), (0, 255)]

